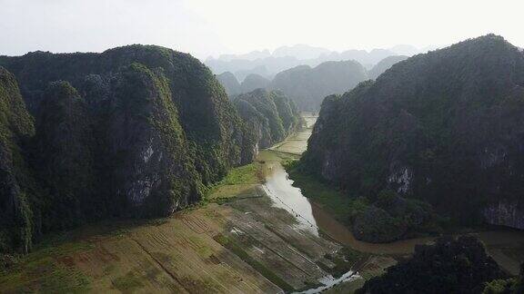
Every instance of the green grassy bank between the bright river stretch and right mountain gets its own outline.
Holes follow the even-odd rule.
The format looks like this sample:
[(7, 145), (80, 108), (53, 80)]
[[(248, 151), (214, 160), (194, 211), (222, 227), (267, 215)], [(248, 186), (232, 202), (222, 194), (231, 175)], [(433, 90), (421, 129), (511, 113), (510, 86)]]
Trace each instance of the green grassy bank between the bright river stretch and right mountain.
[(338, 221), (349, 224), (359, 212), (368, 208), (368, 201), (364, 197), (348, 195), (327, 182), (318, 180), (317, 176), (301, 169), (297, 161), (284, 162), (283, 165), (289, 178), (294, 181), (293, 185)]

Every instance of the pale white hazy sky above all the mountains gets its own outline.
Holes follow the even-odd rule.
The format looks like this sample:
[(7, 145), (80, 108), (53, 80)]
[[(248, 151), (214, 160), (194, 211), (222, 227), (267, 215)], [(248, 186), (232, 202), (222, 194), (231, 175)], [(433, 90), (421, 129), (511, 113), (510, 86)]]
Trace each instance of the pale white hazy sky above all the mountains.
[(310, 44), (452, 44), (495, 33), (524, 46), (521, 0), (0, 0), (0, 54), (159, 44), (199, 58)]

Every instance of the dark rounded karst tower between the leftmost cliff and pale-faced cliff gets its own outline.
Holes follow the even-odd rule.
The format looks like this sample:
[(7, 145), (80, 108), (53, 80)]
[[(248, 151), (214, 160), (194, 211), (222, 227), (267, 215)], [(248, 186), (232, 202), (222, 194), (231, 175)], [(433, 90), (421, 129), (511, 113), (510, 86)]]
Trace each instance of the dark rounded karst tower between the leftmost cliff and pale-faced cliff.
[(96, 205), (93, 125), (85, 100), (70, 83), (49, 83), (44, 97), (31, 147), (35, 174), (46, 192), (35, 209), (42, 213), (44, 230), (66, 229), (86, 221), (86, 208), (101, 209)]

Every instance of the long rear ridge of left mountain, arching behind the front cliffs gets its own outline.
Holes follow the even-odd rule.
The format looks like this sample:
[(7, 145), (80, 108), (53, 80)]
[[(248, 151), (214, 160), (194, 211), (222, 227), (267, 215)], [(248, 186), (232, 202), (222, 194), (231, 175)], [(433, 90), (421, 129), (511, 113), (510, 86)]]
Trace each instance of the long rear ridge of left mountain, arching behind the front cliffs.
[[(0, 58), (0, 64), (15, 74), (31, 113), (36, 113), (47, 83), (65, 80), (83, 93), (86, 78), (101, 81), (90, 105), (105, 100), (107, 76), (133, 63), (165, 76), (179, 121), (189, 141), (195, 144), (196, 166), (203, 181), (217, 180), (232, 163), (241, 161), (237, 149), (241, 122), (227, 95), (209, 69), (189, 54), (158, 46), (130, 45), (102, 54), (33, 53)], [(97, 77), (98, 76), (98, 77)], [(218, 154), (218, 156), (217, 156)]]

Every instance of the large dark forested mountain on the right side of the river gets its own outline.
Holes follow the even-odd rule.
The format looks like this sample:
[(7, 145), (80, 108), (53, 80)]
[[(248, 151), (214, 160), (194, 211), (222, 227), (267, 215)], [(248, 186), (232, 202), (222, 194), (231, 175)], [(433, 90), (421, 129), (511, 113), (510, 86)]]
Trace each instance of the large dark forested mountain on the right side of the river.
[(490, 34), (326, 98), (302, 164), (370, 198), (389, 188), (463, 222), (524, 229), (523, 113), (524, 55)]

